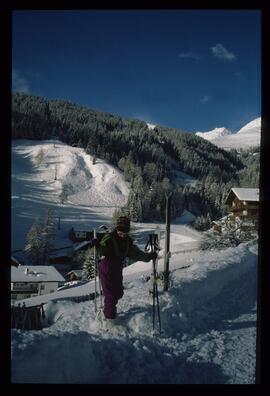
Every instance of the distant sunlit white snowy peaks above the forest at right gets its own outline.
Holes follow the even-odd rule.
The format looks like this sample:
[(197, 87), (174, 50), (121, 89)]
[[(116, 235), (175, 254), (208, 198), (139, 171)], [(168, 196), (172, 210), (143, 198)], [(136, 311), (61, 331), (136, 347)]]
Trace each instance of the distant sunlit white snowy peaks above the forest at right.
[(196, 132), (196, 135), (224, 149), (256, 147), (261, 140), (261, 118), (249, 122), (236, 133), (226, 128), (215, 128), (209, 132)]

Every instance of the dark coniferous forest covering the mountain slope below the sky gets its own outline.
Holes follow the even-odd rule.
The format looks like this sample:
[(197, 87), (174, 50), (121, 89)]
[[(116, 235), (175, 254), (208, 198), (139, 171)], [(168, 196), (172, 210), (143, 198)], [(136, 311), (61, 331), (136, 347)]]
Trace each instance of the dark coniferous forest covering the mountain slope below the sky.
[[(133, 221), (164, 220), (166, 195), (173, 193), (172, 218), (187, 209), (204, 229), (226, 214), (224, 199), (231, 187), (259, 185), (259, 147), (225, 151), (193, 133), (149, 129), (144, 121), (13, 92), (12, 138), (55, 137), (123, 172), (130, 183), (125, 210)], [(179, 181), (179, 171), (197, 182)]]

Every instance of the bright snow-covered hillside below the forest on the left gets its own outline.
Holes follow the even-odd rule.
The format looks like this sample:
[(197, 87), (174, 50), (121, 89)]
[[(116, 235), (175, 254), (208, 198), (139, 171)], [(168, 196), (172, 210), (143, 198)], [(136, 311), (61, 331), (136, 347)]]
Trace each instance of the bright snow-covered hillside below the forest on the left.
[[(43, 152), (40, 164), (36, 157)], [(56, 180), (55, 180), (56, 179)], [(60, 204), (63, 185), (69, 195)], [(58, 140), (12, 142), (12, 250), (22, 249), (34, 220), (44, 218), (46, 208), (60, 217), (58, 239), (69, 244), (71, 227), (98, 227), (111, 220), (116, 208), (127, 200), (129, 187), (118, 169), (92, 157), (82, 148)]]

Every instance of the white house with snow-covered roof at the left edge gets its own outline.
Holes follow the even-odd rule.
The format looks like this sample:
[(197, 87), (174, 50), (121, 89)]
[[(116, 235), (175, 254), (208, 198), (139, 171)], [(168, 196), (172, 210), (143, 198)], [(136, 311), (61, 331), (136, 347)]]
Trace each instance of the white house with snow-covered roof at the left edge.
[(11, 267), (12, 301), (55, 292), (65, 278), (53, 266), (19, 265)]

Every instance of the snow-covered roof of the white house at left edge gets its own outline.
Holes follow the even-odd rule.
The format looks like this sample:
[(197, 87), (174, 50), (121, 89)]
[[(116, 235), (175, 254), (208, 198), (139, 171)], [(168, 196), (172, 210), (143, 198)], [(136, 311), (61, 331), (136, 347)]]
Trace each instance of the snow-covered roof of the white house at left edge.
[(65, 282), (53, 266), (19, 265), (11, 268), (11, 282)]

